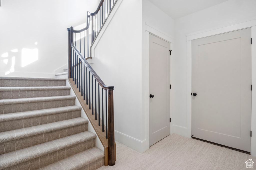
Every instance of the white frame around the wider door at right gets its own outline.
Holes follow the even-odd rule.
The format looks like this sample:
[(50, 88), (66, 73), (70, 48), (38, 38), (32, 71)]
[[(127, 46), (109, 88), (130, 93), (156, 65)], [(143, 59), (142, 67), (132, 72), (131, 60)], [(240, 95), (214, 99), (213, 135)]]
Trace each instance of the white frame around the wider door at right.
[[(219, 27), (202, 30), (187, 34), (187, 137), (191, 138), (192, 129), (192, 53), (191, 41), (208, 36), (223, 34), (231, 31), (237, 31), (245, 28), (251, 28), (251, 82), (255, 90), (251, 92), (251, 103), (256, 103), (256, 17), (231, 22)], [(254, 42), (253, 42), (254, 41)], [(253, 89), (253, 88), (252, 88)], [(251, 155), (256, 156), (256, 105), (251, 105)]]

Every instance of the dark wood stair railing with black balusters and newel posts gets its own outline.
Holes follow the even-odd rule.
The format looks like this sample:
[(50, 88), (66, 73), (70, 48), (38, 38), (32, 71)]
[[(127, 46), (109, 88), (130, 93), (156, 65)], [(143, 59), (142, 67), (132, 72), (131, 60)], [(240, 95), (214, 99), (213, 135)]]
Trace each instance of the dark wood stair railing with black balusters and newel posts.
[[(103, 2), (106, 2), (106, 1), (107, 3), (103, 4)], [(98, 135), (104, 147), (104, 154), (105, 154), (104, 165), (105, 166), (114, 165), (116, 160), (116, 150), (115, 150), (116, 146), (115, 146), (115, 137), (114, 137), (114, 100), (113, 100), (114, 86), (106, 86), (105, 83), (99, 77), (99, 75), (93, 70), (90, 64), (86, 61), (86, 59), (92, 58), (92, 57), (89, 57), (89, 29), (90, 28), (92, 29), (91, 42), (90, 42), (91, 43), (90, 51), (91, 51), (92, 44), (97, 38), (98, 33), (103, 27), (116, 1), (117, 0), (115, 0), (115, 2), (114, 0), (112, 1), (101, 0), (95, 12), (91, 13), (88, 11), (87, 25), (85, 28), (81, 30), (74, 30), (73, 27), (68, 28), (68, 81), (70, 83), (73, 82), (71, 84), (71, 87), (74, 90), (74, 93), (76, 94), (76, 96), (78, 97), (79, 102), (81, 103), (81, 106), (83, 107), (85, 113), (87, 114), (89, 121), (91, 122), (96, 134)], [(106, 8), (106, 5), (107, 5), (107, 8)], [(106, 16), (106, 9), (108, 13), (107, 16)], [(104, 16), (104, 21), (103, 21), (103, 16)], [(90, 27), (90, 17), (92, 18), (91, 27)], [(85, 31), (87, 31), (86, 36), (85, 36)], [(83, 38), (81, 38), (81, 33), (83, 34)], [(77, 37), (77, 34), (80, 37), (78, 41), (77, 41), (77, 38), (75, 38), (76, 39), (75, 43), (74, 43), (74, 34), (76, 37)], [(87, 56), (85, 54), (85, 37), (87, 37)], [(84, 55), (81, 54), (81, 50), (82, 50), (81, 40), (83, 40), (82, 48), (83, 48)], [(77, 46), (77, 43), (79, 44), (78, 46)], [(85, 72), (85, 69), (86, 69), (86, 72)], [(89, 71), (89, 76), (87, 71)], [(96, 84), (98, 84), (98, 97), (96, 95), (97, 94)], [(101, 103), (100, 103), (100, 87), (101, 87)], [(103, 90), (105, 90), (105, 103), (103, 103)], [(97, 98), (98, 98), (98, 101), (96, 100)], [(98, 103), (98, 108), (97, 108), (97, 103)], [(105, 109), (104, 109), (104, 104), (105, 104)], [(92, 112), (92, 114), (89, 114), (89, 112)], [(105, 113), (105, 115), (103, 114), (103, 112)]]

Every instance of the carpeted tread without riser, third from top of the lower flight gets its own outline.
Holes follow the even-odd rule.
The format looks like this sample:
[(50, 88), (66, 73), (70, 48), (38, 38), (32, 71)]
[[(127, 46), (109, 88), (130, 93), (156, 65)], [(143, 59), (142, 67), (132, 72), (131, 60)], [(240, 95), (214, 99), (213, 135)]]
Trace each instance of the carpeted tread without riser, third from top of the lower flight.
[(31, 97), (21, 99), (1, 99), (0, 105), (5, 104), (17, 104), (17, 103), (32, 103), (32, 102), (43, 102), (43, 101), (54, 101), (54, 100), (68, 100), (75, 99), (76, 96), (50, 96), (50, 97)]

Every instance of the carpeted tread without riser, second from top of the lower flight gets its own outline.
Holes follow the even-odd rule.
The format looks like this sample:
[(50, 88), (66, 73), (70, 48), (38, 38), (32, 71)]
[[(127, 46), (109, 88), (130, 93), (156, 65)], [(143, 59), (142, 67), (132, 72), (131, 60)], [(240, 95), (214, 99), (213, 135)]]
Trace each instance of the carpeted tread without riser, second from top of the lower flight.
[(0, 91), (25, 91), (25, 90), (66, 90), (68, 86), (42, 86), (42, 87), (0, 87)]

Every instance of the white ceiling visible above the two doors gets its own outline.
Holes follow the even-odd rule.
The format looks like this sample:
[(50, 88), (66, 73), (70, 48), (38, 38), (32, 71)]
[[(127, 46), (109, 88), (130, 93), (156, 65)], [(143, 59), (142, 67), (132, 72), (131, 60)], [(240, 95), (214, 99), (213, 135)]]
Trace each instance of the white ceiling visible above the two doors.
[(228, 0), (149, 0), (173, 19), (209, 8)]

